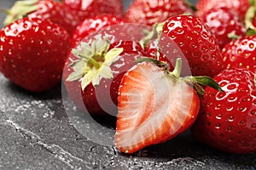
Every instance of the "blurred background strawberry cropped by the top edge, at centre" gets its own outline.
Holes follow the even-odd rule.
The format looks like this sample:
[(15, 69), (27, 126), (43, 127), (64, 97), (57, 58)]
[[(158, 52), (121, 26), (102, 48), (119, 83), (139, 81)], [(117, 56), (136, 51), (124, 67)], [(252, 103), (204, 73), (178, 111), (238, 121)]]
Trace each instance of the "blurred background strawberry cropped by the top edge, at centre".
[(153, 26), (184, 13), (193, 12), (183, 0), (135, 0), (125, 13), (125, 21)]

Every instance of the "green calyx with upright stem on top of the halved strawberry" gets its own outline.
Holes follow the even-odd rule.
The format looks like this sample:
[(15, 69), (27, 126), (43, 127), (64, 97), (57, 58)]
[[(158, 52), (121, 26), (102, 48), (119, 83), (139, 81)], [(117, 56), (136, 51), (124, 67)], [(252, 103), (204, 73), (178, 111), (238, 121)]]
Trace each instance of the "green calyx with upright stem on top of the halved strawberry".
[(205, 93), (205, 90), (202, 86), (209, 86), (211, 88), (218, 90), (219, 92), (223, 92), (223, 90), (218, 85), (218, 82), (215, 82), (211, 77), (180, 77), (181, 71), (182, 71), (181, 58), (177, 58), (175, 68), (172, 72), (170, 72), (169, 66), (166, 64), (166, 62), (163, 62), (157, 59), (147, 58), (147, 57), (137, 59), (137, 63), (141, 63), (143, 61), (154, 63), (154, 65), (157, 65), (163, 68), (163, 70), (166, 71), (166, 74), (169, 75), (170, 77), (175, 79), (181, 79), (182, 81), (186, 82), (191, 87), (195, 88), (195, 91), (200, 96), (203, 96)]

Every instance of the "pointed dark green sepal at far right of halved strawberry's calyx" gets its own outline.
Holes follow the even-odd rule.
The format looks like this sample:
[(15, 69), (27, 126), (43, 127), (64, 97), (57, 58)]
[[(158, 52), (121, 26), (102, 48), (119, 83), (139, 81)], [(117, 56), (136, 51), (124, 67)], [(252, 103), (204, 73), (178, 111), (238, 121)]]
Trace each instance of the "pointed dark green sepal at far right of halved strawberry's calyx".
[(215, 82), (211, 77), (192, 77), (195, 82), (200, 83), (204, 86), (209, 86), (211, 88), (215, 88), (219, 92), (223, 92), (223, 89), (220, 88), (218, 82)]

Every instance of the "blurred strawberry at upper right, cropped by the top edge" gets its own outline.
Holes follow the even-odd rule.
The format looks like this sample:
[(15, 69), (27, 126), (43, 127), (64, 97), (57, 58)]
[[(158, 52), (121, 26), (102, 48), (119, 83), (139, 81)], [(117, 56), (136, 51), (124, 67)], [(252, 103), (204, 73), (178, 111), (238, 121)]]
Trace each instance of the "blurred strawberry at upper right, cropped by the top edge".
[(226, 7), (231, 11), (235, 11), (241, 18), (245, 19), (247, 9), (250, 7), (250, 0), (199, 0), (196, 3), (196, 15), (201, 17), (211, 8)]

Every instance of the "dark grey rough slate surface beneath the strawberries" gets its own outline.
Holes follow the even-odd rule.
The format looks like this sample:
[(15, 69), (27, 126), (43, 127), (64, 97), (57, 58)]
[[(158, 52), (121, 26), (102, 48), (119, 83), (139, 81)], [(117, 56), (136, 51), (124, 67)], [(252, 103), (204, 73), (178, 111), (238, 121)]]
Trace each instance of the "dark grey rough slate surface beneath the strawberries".
[[(0, 7), (12, 2), (1, 0)], [(214, 150), (197, 143), (189, 132), (126, 156), (112, 146), (91, 142), (73, 127), (61, 85), (30, 94), (2, 75), (0, 135), (0, 169), (256, 169), (256, 153)]]

